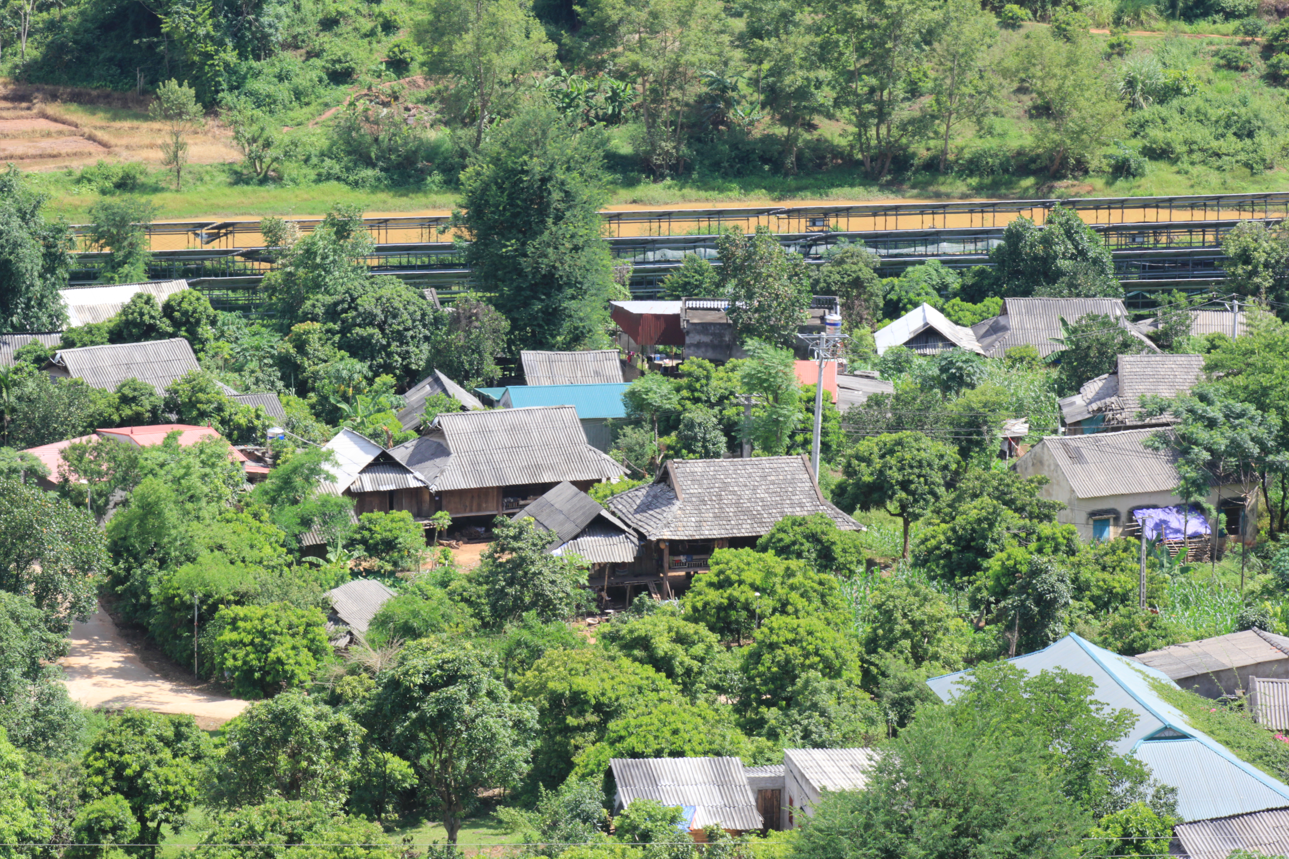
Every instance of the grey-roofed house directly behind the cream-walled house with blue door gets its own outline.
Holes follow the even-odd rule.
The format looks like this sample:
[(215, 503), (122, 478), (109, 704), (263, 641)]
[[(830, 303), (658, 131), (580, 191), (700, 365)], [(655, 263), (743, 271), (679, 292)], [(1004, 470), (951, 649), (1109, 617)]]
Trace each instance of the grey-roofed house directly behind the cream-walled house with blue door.
[(1204, 355), (1119, 355), (1112, 373), (1097, 376), (1079, 393), (1057, 401), (1067, 435), (1081, 435), (1139, 426), (1165, 426), (1167, 415), (1141, 417), (1141, 398), (1147, 394), (1176, 397), (1200, 381)]

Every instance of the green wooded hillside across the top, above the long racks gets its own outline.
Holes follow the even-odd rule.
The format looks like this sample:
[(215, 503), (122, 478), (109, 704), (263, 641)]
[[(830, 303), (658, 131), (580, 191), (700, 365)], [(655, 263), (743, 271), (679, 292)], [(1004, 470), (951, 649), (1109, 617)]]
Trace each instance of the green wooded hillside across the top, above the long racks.
[[(1255, 189), (1289, 117), (1289, 23), (1257, 0), (12, 0), (3, 15), (12, 80), (188, 84), (232, 130), (244, 158), (218, 166), (235, 184), (451, 193), (496, 122), (547, 102), (623, 184)], [(173, 187), (104, 166), (70, 178)]]

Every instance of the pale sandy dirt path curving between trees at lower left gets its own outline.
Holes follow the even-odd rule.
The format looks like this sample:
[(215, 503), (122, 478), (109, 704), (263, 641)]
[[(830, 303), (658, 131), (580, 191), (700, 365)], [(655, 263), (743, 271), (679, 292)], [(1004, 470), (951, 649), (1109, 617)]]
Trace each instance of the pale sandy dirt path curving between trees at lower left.
[(245, 701), (166, 680), (143, 665), (102, 607), (85, 623), (72, 625), (71, 652), (62, 666), (72, 699), (95, 710), (141, 707), (161, 713), (191, 713), (209, 730), (246, 707)]

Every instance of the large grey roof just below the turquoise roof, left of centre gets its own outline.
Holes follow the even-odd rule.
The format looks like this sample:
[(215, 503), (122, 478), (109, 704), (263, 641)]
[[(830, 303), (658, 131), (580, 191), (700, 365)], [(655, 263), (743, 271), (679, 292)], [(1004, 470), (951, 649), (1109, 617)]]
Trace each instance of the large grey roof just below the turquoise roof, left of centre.
[(610, 480), (623, 466), (586, 443), (572, 406), (454, 412), (393, 448), (436, 492), (482, 487)]

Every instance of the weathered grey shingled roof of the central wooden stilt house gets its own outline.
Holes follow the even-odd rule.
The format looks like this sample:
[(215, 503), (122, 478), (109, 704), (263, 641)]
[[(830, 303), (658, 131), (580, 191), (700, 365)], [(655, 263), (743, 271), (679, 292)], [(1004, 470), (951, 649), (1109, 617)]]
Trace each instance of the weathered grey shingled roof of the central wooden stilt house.
[(759, 537), (784, 516), (815, 513), (860, 529), (824, 498), (803, 456), (670, 460), (654, 483), (615, 495), (608, 509), (650, 540)]

